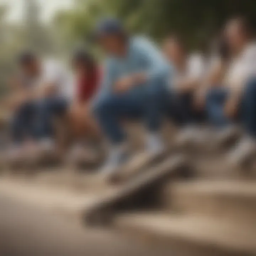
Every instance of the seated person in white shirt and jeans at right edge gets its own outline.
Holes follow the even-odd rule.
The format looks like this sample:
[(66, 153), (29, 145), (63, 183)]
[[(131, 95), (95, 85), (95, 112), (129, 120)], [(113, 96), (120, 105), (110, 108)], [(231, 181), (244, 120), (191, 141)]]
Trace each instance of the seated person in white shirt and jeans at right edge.
[(224, 88), (215, 88), (209, 92), (207, 110), (215, 126), (230, 127), (238, 119), (243, 124), (246, 136), (230, 155), (230, 159), (244, 161), (256, 150), (256, 44), (243, 18), (227, 22), (225, 38), (231, 58), (226, 66)]

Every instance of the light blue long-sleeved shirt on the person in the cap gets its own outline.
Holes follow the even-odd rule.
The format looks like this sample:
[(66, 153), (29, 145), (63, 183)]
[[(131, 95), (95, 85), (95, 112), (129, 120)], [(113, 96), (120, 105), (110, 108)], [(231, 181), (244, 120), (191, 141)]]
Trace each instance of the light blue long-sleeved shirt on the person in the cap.
[[(110, 56), (106, 59), (104, 75), (94, 105), (112, 93), (115, 82), (123, 76), (146, 72), (149, 79), (169, 78), (170, 66), (160, 50), (144, 37), (129, 39), (128, 54), (124, 58)], [(144, 85), (134, 86), (132, 90), (143, 93)]]

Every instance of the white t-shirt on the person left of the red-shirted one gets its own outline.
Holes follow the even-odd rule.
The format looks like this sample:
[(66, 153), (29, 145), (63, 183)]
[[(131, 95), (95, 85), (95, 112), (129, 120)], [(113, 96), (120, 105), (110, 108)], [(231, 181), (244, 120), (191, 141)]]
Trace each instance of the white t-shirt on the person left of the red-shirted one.
[(55, 60), (44, 60), (42, 62), (41, 76), (38, 79), (38, 86), (53, 84), (57, 87), (57, 95), (66, 98), (73, 98), (73, 78), (64, 65)]

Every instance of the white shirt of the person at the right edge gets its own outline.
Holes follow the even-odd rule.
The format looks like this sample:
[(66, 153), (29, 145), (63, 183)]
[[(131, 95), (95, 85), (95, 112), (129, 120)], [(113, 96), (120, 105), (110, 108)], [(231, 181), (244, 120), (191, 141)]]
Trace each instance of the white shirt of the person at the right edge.
[(246, 81), (256, 75), (256, 43), (245, 47), (241, 54), (231, 60), (224, 84), (231, 90), (241, 89)]

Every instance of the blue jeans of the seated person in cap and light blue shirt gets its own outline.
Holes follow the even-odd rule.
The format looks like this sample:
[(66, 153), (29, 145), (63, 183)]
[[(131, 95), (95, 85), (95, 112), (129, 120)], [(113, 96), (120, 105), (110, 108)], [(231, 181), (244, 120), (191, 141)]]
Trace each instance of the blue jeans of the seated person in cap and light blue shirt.
[(144, 119), (149, 131), (159, 130), (167, 96), (165, 79), (152, 79), (142, 92), (131, 90), (124, 94), (110, 94), (97, 102), (96, 117), (113, 144), (125, 139), (122, 120)]

